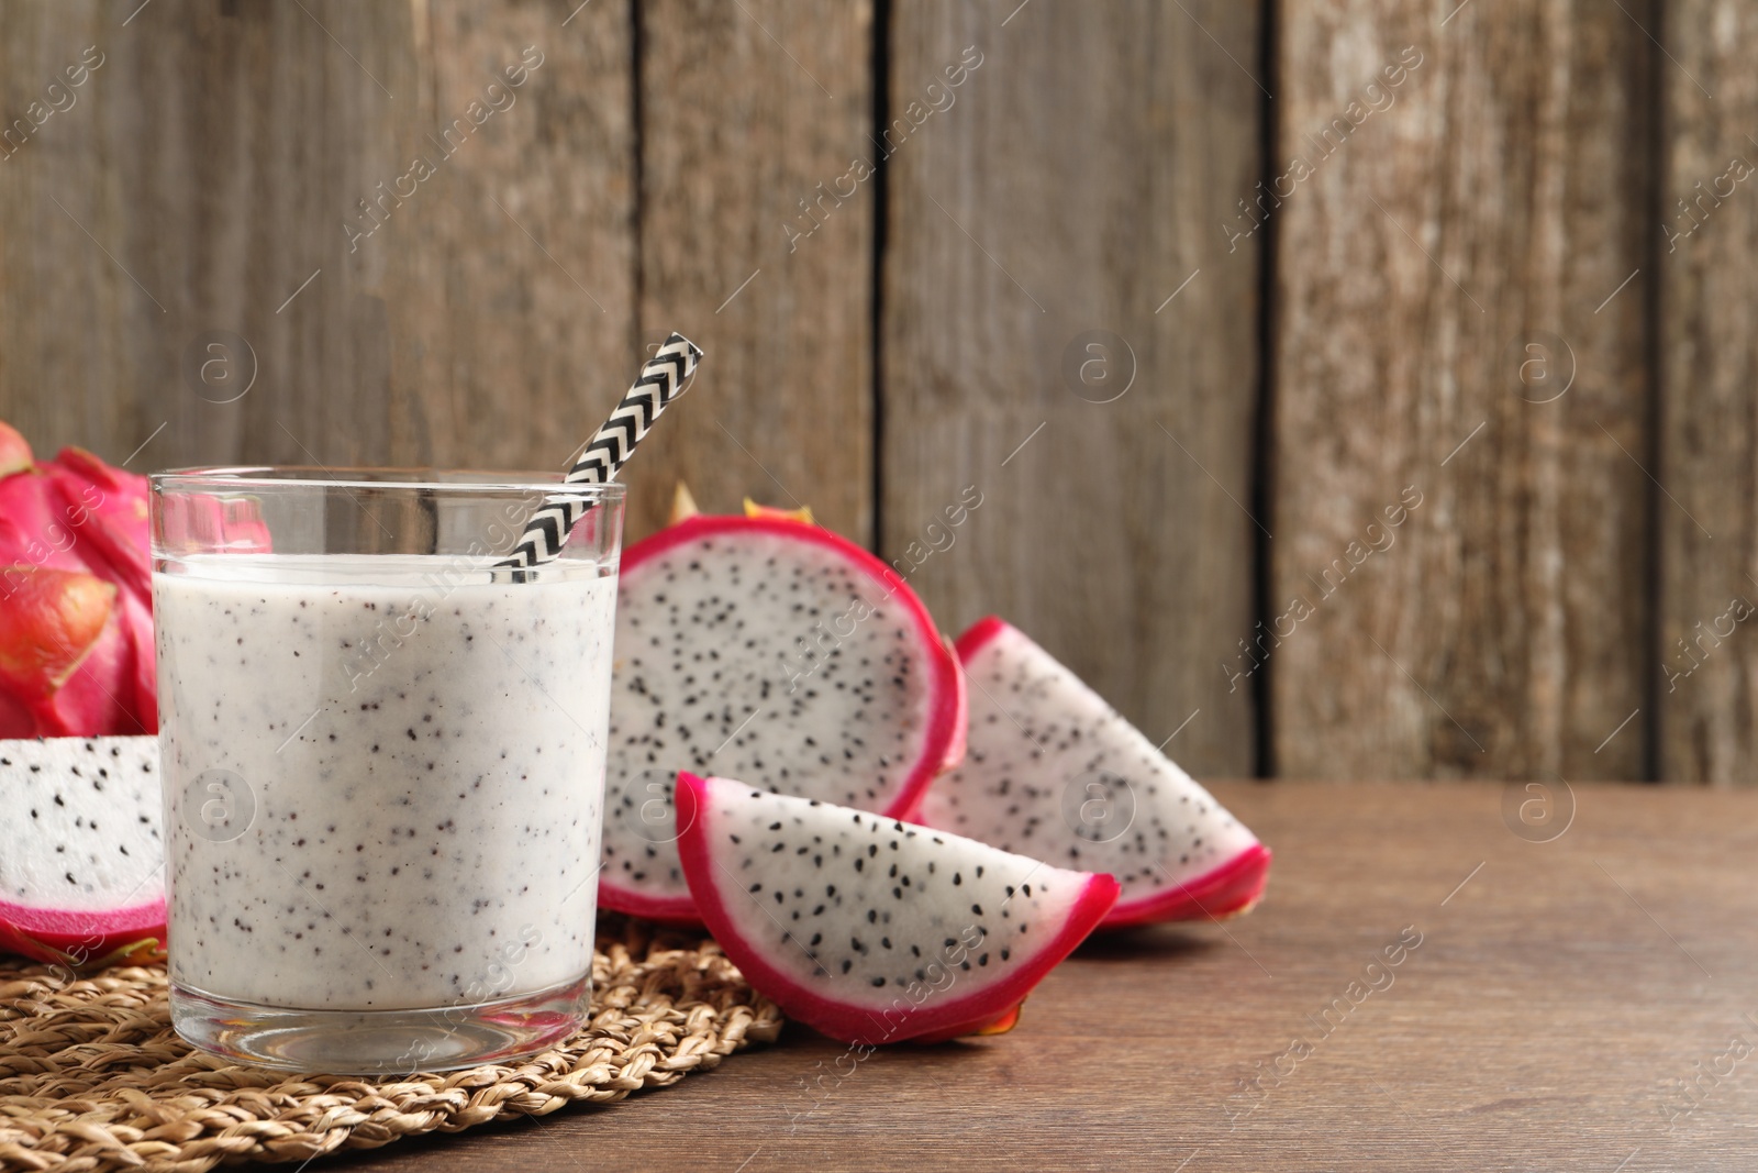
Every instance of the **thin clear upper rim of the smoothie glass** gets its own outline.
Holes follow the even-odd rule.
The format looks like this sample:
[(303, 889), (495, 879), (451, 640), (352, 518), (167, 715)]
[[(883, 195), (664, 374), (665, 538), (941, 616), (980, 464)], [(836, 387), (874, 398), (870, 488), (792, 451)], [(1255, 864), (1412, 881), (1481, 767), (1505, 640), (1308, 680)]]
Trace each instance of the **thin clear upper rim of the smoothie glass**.
[[(469, 480), (436, 480), (468, 477)], [(250, 491), (250, 489), (378, 489), (427, 492), (563, 492), (566, 496), (621, 499), (628, 487), (615, 480), (568, 484), (563, 473), (534, 470), (476, 470), (380, 464), (197, 464), (165, 468), (146, 475), (153, 491)]]

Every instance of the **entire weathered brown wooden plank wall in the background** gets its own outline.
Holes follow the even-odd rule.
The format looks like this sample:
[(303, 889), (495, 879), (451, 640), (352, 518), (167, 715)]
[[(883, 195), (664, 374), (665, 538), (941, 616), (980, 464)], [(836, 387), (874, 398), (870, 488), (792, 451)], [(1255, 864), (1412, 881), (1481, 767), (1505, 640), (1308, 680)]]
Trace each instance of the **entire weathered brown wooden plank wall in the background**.
[(0, 417), (556, 466), (677, 327), (635, 535), (809, 501), (1199, 774), (1742, 784), (1754, 53), (1732, 0), (4, 0)]

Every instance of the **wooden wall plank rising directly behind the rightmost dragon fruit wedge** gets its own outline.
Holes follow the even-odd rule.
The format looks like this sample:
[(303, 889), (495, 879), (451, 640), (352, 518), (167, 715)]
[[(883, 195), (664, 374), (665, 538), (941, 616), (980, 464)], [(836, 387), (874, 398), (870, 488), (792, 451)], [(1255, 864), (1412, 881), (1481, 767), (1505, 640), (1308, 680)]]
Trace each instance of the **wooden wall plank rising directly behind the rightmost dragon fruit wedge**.
[(883, 545), (932, 549), (974, 487), (911, 577), (935, 616), (1006, 616), (1245, 774), (1255, 691), (1220, 663), (1252, 630), (1260, 266), (1215, 225), (1257, 181), (1260, 30), (1185, 7), (897, 5), (893, 111), (981, 65), (890, 164)]

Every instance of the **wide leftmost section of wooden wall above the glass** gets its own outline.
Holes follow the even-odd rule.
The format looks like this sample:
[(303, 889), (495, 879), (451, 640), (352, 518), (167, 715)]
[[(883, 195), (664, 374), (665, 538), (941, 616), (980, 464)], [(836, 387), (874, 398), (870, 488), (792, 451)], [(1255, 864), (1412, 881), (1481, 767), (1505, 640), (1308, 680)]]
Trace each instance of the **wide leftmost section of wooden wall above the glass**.
[[(120, 7), (4, 16), (7, 111), (104, 56), (0, 164), (4, 403), (39, 443), (120, 461), (167, 424), (139, 466), (519, 463), (628, 366), (626, 14), (564, 35), (540, 5), (492, 26), (461, 5)], [(527, 46), (541, 63), (498, 83)], [(429, 178), (406, 179), (415, 158)], [(246, 339), (227, 353), (248, 394), (220, 366), (185, 376), (211, 331)]]

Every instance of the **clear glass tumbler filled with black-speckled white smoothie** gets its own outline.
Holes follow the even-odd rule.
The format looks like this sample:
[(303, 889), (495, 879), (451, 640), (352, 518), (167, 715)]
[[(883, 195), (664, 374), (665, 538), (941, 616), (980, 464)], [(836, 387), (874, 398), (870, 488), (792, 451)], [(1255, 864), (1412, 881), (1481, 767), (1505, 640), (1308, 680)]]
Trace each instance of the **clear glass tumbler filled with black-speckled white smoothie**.
[[(151, 478), (171, 1015), (248, 1062), (443, 1071), (589, 1006), (622, 487)], [(561, 556), (496, 566), (547, 501)]]

